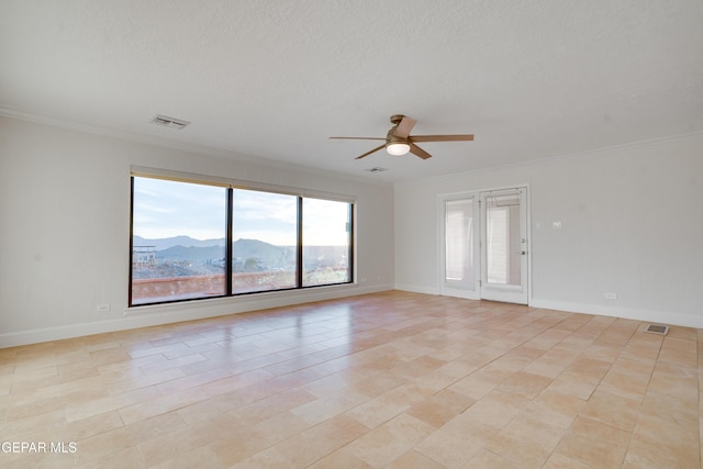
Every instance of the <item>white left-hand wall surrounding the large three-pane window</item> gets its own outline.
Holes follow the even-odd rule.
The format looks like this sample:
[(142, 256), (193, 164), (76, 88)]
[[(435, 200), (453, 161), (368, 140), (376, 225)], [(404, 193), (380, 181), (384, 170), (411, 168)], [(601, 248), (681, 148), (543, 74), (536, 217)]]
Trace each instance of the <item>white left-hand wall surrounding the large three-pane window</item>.
[[(0, 347), (392, 288), (391, 186), (207, 153), (0, 118)], [(132, 165), (354, 196), (366, 281), (129, 310)]]

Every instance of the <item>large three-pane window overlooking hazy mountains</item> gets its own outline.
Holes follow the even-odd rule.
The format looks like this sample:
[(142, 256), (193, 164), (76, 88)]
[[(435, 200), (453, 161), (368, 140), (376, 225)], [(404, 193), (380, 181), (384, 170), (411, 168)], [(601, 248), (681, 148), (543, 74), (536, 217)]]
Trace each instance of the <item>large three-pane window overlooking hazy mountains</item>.
[(130, 305), (349, 283), (353, 203), (132, 177)]

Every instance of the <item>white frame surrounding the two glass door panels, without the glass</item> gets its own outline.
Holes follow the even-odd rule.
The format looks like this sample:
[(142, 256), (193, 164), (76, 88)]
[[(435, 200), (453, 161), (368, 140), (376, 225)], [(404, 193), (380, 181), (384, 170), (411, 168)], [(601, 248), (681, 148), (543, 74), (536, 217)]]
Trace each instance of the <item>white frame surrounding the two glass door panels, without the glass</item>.
[[(484, 261), (484, 208), (481, 206), (480, 202), (482, 199), (482, 194), (489, 194), (491, 192), (500, 193), (503, 191), (511, 190), (523, 190), (525, 205), (524, 205), (524, 216), (525, 216), (525, 295), (526, 303), (518, 302), (518, 304), (527, 304), (529, 305), (532, 301), (532, 223), (531, 223), (531, 199), (529, 199), (529, 185), (516, 185), (510, 187), (499, 187), (491, 189), (479, 189), (471, 191), (462, 191), (462, 192), (451, 192), (444, 193), (437, 196), (437, 271), (438, 271), (438, 281), (439, 281), (439, 294), (447, 297), (457, 297), (457, 298), (466, 298), (469, 300), (490, 300), (490, 301), (505, 301), (505, 302), (515, 302), (510, 300), (498, 300), (496, 297), (490, 295), (491, 298), (486, 298), (482, 291), (482, 263)], [(445, 224), (446, 224), (446, 213), (445, 213), (445, 203), (453, 200), (465, 200), (465, 199), (473, 199), (473, 249), (475, 249), (475, 266), (473, 266), (473, 279), (475, 282), (470, 287), (466, 288), (457, 288), (456, 286), (447, 284), (446, 281), (446, 238), (445, 238)]]

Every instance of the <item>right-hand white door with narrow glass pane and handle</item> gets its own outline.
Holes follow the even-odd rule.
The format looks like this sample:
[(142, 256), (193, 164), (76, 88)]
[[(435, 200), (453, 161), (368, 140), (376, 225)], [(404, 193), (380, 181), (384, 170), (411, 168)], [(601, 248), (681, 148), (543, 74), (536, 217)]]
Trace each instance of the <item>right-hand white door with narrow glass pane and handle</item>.
[(480, 193), (480, 298), (527, 304), (526, 189)]

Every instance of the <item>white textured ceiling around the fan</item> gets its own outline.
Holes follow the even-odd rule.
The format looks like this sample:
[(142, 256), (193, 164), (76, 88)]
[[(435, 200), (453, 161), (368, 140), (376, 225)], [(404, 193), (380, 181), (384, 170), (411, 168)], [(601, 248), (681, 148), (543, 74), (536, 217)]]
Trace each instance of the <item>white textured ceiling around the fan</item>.
[[(703, 131), (702, 25), (701, 0), (2, 0), (0, 113), (408, 180)], [(476, 141), (327, 138), (395, 113)]]

